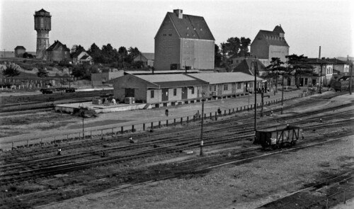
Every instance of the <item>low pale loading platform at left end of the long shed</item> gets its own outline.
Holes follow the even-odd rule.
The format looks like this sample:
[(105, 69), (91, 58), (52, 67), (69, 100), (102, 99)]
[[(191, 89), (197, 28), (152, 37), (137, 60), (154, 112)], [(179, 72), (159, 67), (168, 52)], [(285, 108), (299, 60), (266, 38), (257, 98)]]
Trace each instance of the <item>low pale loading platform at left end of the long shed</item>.
[(112, 112), (119, 112), (119, 111), (132, 111), (132, 110), (151, 108), (151, 106), (148, 106), (146, 103), (134, 103), (134, 104), (110, 103), (109, 105), (106, 105), (106, 104), (93, 104), (90, 101), (84, 103), (58, 104), (55, 105), (55, 111), (59, 111), (62, 113), (74, 113), (75, 110), (79, 110), (81, 107), (89, 108), (90, 110), (93, 110), (96, 113), (112, 113)]

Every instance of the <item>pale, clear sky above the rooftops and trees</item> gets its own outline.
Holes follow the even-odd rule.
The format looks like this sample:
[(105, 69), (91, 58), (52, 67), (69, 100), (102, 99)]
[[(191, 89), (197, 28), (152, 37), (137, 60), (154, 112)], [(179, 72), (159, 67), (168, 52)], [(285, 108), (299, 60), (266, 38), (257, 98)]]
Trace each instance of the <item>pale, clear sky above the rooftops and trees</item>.
[(231, 37), (256, 37), (259, 30), (281, 25), (290, 55), (307, 57), (354, 56), (352, 0), (0, 0), (0, 50), (23, 45), (35, 52), (34, 13), (52, 15), (50, 44), (55, 40), (86, 50), (110, 43), (154, 52), (154, 37), (167, 12), (205, 18), (215, 43)]

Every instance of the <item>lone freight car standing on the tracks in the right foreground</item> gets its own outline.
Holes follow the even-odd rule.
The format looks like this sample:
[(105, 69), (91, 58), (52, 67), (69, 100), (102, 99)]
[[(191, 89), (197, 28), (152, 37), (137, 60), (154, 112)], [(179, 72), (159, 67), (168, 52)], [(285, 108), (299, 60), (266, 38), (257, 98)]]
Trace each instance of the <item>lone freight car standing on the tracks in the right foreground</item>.
[(297, 126), (282, 125), (271, 128), (256, 130), (254, 144), (263, 148), (280, 149), (282, 147), (292, 147), (302, 135), (301, 128)]

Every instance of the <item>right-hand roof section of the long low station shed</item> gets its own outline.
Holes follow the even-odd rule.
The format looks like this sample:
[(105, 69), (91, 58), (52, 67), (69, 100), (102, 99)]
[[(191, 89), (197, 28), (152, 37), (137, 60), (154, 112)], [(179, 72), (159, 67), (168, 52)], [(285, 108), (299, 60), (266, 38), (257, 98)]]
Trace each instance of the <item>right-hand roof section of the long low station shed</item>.
[[(195, 79), (200, 79), (208, 84), (227, 84), (243, 81), (254, 81), (254, 77), (245, 74), (243, 72), (214, 72), (214, 73), (198, 73), (198, 74), (188, 74), (188, 76)], [(258, 81), (263, 81), (263, 79), (258, 78)]]

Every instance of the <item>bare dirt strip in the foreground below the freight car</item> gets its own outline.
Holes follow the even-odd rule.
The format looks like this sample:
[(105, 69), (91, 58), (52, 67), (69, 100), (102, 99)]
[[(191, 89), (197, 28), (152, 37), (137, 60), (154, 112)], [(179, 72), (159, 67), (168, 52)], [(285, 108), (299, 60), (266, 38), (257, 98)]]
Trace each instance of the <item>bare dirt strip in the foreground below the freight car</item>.
[(247, 164), (213, 169), (205, 176), (94, 193), (44, 208), (256, 208), (324, 176), (354, 169), (353, 151), (351, 136)]

